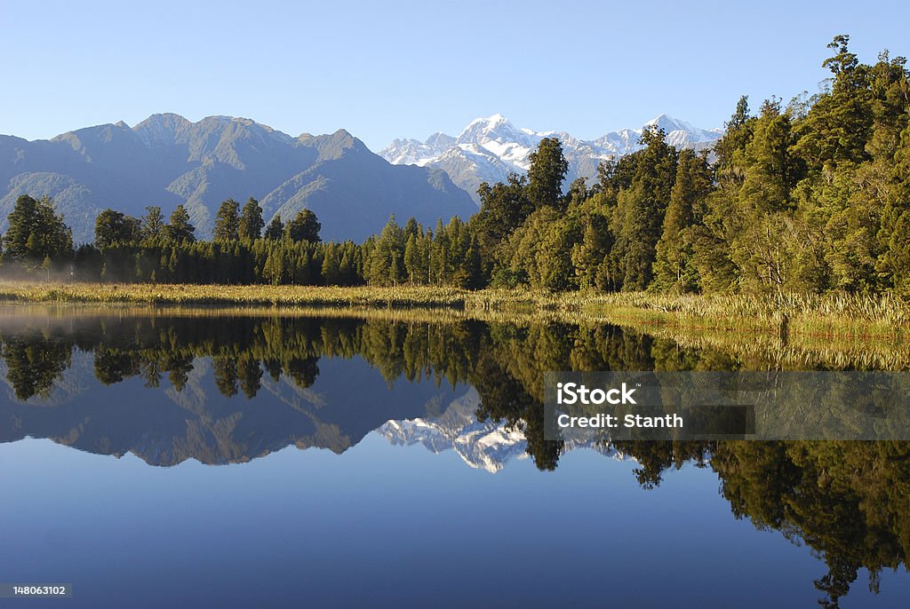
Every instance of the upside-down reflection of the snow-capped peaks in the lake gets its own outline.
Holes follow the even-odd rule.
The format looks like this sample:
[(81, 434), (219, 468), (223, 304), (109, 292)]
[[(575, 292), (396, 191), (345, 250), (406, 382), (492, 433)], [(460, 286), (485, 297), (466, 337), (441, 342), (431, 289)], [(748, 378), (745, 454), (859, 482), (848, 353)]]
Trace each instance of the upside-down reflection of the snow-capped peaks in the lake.
[[(499, 472), (512, 459), (528, 458), (528, 441), (524, 433), (509, 428), (504, 422), (480, 423), (475, 416), (479, 405), (480, 395), (472, 388), (439, 416), (392, 420), (376, 431), (393, 445), (422, 444), (434, 454), (454, 450), (470, 467), (490, 474)], [(576, 448), (590, 448), (618, 461), (626, 458), (599, 445), (566, 443), (566, 451)]]

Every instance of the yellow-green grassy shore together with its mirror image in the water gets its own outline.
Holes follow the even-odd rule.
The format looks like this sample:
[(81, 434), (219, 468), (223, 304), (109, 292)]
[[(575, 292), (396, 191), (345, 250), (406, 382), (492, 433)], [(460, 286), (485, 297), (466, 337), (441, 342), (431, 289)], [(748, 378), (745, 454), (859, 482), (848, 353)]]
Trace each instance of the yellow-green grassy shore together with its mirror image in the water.
[[(2, 284), (0, 300), (155, 304), (156, 309), (178, 305), (183, 314), (189, 314), (193, 307), (217, 306), (222, 314), (610, 323), (691, 346), (713, 347), (782, 364), (910, 366), (910, 304), (888, 296), (553, 295), (526, 290), (469, 292), (408, 286)], [(212, 309), (207, 308), (205, 314), (212, 314)]]

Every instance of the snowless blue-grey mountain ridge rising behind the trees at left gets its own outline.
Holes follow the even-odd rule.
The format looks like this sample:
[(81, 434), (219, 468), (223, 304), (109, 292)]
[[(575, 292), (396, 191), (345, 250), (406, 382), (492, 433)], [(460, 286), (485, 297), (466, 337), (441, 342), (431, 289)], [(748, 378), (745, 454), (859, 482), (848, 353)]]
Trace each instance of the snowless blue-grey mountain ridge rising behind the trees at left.
[(159, 205), (169, 215), (183, 204), (207, 238), (223, 200), (253, 196), (267, 222), (309, 208), (324, 240), (355, 241), (379, 232), (390, 214), (435, 225), (477, 211), (440, 168), (390, 165), (347, 131), (292, 137), (228, 116), (193, 123), (152, 115), (51, 140), (0, 135), (0, 230), (22, 194), (53, 197), (76, 243), (94, 240), (107, 207), (139, 216)]

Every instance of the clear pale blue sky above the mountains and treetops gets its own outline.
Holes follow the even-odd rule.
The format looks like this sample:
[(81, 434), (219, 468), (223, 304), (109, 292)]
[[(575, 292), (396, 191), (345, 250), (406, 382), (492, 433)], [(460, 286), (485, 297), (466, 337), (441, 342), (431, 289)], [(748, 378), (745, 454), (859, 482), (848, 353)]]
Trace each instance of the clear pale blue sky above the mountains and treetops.
[(0, 0), (0, 134), (176, 112), (378, 150), (500, 113), (592, 138), (666, 113), (720, 126), (817, 91), (825, 45), (910, 55), (910, 3)]

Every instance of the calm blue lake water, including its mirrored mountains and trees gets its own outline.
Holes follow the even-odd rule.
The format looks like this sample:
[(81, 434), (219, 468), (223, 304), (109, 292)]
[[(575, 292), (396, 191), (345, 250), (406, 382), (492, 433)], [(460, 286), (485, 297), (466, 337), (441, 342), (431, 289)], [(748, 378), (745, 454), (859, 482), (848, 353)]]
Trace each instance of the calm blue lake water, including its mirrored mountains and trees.
[(0, 311), (11, 607), (910, 605), (910, 443), (542, 437), (546, 370), (759, 360), (605, 325)]

